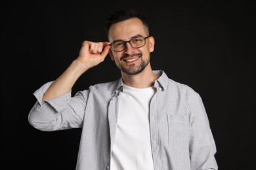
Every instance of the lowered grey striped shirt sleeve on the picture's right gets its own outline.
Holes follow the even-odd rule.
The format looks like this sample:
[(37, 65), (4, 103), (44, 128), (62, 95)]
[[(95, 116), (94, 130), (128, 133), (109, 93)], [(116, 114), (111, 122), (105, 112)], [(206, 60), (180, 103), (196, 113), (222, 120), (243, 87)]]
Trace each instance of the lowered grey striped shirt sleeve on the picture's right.
[(192, 120), (190, 123), (190, 162), (192, 170), (218, 169), (217, 152), (209, 120), (200, 95), (190, 100)]

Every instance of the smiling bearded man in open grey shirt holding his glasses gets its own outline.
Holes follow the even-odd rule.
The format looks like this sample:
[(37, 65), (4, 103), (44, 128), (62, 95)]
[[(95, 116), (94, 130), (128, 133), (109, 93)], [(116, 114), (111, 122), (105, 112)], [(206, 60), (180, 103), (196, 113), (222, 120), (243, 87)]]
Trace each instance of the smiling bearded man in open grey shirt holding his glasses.
[[(30, 124), (42, 131), (82, 127), (77, 170), (218, 169), (200, 95), (152, 71), (155, 41), (144, 16), (119, 10), (105, 29), (109, 42), (84, 41), (68, 69), (33, 93)], [(121, 78), (72, 97), (79, 76), (108, 54)]]

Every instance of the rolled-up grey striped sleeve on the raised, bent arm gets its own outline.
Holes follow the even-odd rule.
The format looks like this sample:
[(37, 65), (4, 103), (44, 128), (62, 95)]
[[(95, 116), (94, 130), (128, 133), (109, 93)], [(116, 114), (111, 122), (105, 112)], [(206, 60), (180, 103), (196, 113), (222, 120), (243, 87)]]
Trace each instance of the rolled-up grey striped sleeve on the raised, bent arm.
[(41, 131), (55, 131), (81, 127), (87, 91), (71, 97), (71, 91), (43, 101), (43, 94), (53, 82), (47, 82), (33, 95), (37, 99), (28, 114), (28, 122)]

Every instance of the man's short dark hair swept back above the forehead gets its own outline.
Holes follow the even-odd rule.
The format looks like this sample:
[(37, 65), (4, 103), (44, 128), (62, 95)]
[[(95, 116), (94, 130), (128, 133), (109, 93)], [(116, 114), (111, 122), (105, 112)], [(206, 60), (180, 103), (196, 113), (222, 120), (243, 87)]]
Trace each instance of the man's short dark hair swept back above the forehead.
[(139, 20), (141, 20), (142, 24), (144, 25), (144, 27), (149, 35), (148, 22), (144, 15), (142, 15), (140, 12), (137, 12), (136, 10), (133, 10), (133, 9), (122, 9), (122, 10), (116, 10), (113, 14), (111, 14), (105, 20), (104, 29), (106, 31), (107, 36), (110, 31), (111, 25), (116, 24), (117, 22), (124, 21), (124, 20), (129, 20), (131, 18), (139, 18)]

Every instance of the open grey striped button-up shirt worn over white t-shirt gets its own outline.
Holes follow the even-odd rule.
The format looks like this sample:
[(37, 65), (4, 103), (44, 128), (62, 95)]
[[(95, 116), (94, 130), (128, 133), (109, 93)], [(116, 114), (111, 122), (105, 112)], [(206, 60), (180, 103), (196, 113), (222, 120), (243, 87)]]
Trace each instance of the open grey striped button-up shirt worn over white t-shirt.
[[(189, 86), (154, 71), (156, 93), (150, 102), (150, 137), (154, 169), (218, 169), (216, 146), (200, 95)], [(82, 127), (77, 170), (111, 169), (110, 155), (116, 135), (119, 80), (90, 86), (43, 101), (52, 82), (36, 90), (37, 98), (28, 116), (41, 131)]]

